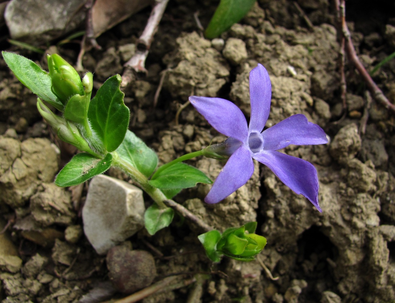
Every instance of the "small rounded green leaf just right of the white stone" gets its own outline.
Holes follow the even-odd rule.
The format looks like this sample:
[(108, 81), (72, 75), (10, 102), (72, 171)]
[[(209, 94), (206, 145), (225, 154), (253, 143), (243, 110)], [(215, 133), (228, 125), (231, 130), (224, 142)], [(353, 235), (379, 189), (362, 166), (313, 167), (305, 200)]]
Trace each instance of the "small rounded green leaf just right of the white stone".
[(156, 204), (152, 204), (144, 214), (145, 228), (152, 236), (158, 230), (169, 226), (173, 217), (174, 210), (172, 208), (159, 208)]

